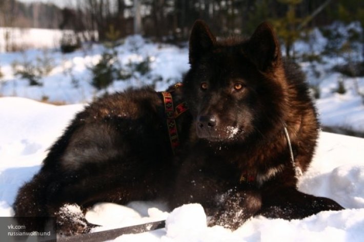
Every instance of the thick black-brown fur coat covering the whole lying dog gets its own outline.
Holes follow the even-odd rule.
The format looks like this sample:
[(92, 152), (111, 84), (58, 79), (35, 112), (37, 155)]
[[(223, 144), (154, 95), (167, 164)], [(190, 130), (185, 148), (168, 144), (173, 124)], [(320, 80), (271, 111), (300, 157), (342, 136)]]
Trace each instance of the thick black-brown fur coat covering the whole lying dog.
[[(248, 40), (216, 41), (196, 21), (189, 58), (183, 88), (173, 92), (177, 103), (189, 105), (177, 119), (182, 145), (174, 158), (158, 93), (102, 98), (77, 114), (41, 171), (19, 190), (15, 216), (65, 220), (64, 204), (86, 210), (97, 202), (163, 199), (171, 209), (200, 203), (210, 225), (236, 229), (257, 214), (292, 219), (342, 209), (296, 189), (295, 170), (307, 170), (319, 126), (304, 75), (281, 58), (268, 24)], [(243, 181), (245, 174), (254, 181)], [(45, 223), (39, 218), (29, 228)], [(60, 224), (65, 234), (89, 229)]]

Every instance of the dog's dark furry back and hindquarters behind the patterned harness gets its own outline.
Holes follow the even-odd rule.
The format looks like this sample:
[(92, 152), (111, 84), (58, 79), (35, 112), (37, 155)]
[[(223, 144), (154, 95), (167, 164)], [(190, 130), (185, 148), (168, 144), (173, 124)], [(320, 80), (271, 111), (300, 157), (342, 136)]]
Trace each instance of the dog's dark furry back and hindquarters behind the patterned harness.
[[(175, 102), (180, 92), (173, 90)], [(39, 217), (27, 225), (39, 231), (46, 217), (57, 215), (64, 204), (87, 209), (96, 202), (163, 197), (174, 173), (164, 109), (161, 94), (150, 88), (91, 103), (50, 148), (41, 171), (18, 191), (15, 216)], [(178, 117), (180, 142), (187, 139), (188, 132), (182, 130), (189, 125), (187, 114)]]

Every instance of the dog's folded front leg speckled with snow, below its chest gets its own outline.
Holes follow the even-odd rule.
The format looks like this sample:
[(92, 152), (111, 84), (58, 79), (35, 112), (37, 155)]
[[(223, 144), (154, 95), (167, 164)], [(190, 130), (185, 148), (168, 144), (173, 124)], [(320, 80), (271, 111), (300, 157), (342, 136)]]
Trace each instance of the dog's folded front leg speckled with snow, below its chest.
[(207, 214), (210, 215), (208, 224), (235, 230), (256, 214), (260, 207), (261, 197), (258, 192), (232, 189), (220, 196), (217, 209), (206, 209)]

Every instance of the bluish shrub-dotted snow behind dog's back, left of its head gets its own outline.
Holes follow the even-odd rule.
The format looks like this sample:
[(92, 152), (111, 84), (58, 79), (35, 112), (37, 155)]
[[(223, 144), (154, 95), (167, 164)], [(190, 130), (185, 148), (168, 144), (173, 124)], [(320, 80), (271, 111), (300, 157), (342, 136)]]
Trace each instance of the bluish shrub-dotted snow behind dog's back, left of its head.
[[(147, 75), (134, 73), (127, 80), (114, 81), (107, 89), (110, 93), (143, 85), (154, 85), (157, 91), (162, 91), (169, 84), (181, 81), (181, 77), (189, 69), (187, 48), (158, 45), (141, 36), (127, 37), (123, 45), (116, 47), (116, 50), (124, 69), (128, 69), (130, 63), (138, 63), (149, 58), (151, 71)], [(91, 45), (70, 54), (62, 54), (58, 49), (0, 53), (0, 71), (4, 75), (0, 78), (0, 95), (35, 100), (46, 97), (49, 101), (65, 103), (90, 102), (96, 96), (105, 93), (97, 92), (91, 85), (90, 71), (90, 67), (100, 60), (104, 51), (102, 45)], [(30, 61), (35, 65), (37, 59), (46, 58), (49, 58), (54, 68), (41, 79), (42, 86), (30, 86), (29, 81), (15, 75), (12, 68), (14, 61), (21, 64)]]

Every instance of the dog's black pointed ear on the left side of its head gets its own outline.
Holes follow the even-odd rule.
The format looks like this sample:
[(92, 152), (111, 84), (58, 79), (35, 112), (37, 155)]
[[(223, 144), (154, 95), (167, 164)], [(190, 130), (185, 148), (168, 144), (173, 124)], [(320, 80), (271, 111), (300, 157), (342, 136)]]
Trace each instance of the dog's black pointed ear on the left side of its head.
[(210, 51), (216, 42), (215, 36), (203, 20), (196, 20), (190, 35), (189, 62), (191, 65)]

